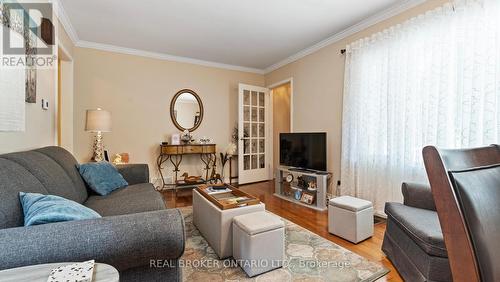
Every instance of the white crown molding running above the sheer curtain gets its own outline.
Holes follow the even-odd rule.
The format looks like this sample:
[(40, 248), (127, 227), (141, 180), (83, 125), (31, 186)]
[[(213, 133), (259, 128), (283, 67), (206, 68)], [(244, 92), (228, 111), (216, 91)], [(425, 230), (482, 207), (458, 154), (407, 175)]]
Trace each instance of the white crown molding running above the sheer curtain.
[(409, 10), (409, 9), (419, 5), (419, 4), (422, 4), (426, 1), (427, 0), (405, 0), (405, 1), (403, 1), (403, 3), (394, 5), (394, 6), (390, 7), (389, 9), (386, 9), (378, 14), (375, 14), (367, 19), (364, 19), (361, 22), (359, 22), (353, 26), (350, 26), (347, 29), (344, 29), (343, 31), (338, 32), (338, 33), (328, 37), (327, 39), (322, 40), (322, 41), (314, 44), (311, 47), (303, 49), (303, 50), (291, 55), (290, 57), (265, 68), (264, 74), (268, 74), (268, 73), (275, 71), (281, 67), (284, 67), (290, 63), (293, 63), (299, 59), (302, 59), (305, 56), (310, 55), (310, 54), (312, 54), (312, 53), (314, 53), (314, 52), (316, 52), (316, 51), (318, 51), (318, 50), (320, 50), (328, 45), (331, 45), (331, 44), (336, 43), (342, 39), (345, 39), (345, 38), (347, 38), (355, 33), (358, 33), (360, 31), (372, 26), (372, 25), (375, 25), (375, 24), (382, 22), (388, 18), (396, 16), (396, 15), (398, 15), (406, 10)]

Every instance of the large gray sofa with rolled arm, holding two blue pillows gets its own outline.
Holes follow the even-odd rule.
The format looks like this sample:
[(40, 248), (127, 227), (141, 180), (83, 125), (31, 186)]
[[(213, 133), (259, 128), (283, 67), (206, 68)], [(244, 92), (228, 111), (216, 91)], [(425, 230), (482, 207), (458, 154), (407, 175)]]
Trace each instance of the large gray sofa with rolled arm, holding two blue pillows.
[[(59, 147), (0, 155), (0, 270), (95, 259), (118, 269), (120, 281), (180, 281), (183, 217), (166, 209), (147, 165), (119, 167), (129, 186), (107, 196), (92, 194), (76, 165)], [(24, 227), (21, 191), (62, 196), (102, 218)]]

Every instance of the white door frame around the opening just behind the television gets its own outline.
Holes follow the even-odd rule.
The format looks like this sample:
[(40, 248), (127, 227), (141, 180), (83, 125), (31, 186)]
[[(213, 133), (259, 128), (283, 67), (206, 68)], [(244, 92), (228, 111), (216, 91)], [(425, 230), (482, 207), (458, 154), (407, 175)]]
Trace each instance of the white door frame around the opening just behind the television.
[(269, 89), (269, 132), (268, 136), (270, 136), (267, 144), (269, 151), (270, 151), (270, 165), (269, 165), (269, 180), (274, 179), (275, 177), (275, 171), (276, 168), (274, 167), (274, 106), (273, 106), (273, 88), (276, 88), (278, 86), (284, 85), (290, 83), (290, 132), (294, 132), (293, 128), (293, 77), (289, 77), (283, 80), (280, 80), (276, 83), (272, 83), (268, 86), (266, 86)]

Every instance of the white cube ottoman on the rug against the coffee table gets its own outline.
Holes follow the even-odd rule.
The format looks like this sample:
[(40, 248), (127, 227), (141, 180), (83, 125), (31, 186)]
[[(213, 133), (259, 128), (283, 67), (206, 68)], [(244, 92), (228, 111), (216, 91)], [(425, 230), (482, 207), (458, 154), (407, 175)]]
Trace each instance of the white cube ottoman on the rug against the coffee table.
[(283, 266), (285, 223), (255, 212), (233, 218), (233, 257), (249, 277)]

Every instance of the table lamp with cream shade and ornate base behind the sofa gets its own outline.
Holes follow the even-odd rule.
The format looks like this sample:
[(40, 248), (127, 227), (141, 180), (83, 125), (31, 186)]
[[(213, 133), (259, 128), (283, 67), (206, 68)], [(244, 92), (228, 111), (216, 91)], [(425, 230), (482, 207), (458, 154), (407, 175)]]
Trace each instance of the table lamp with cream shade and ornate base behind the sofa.
[(87, 110), (85, 131), (96, 133), (92, 160), (96, 162), (103, 161), (104, 147), (102, 144), (102, 133), (111, 132), (111, 113), (100, 108)]

